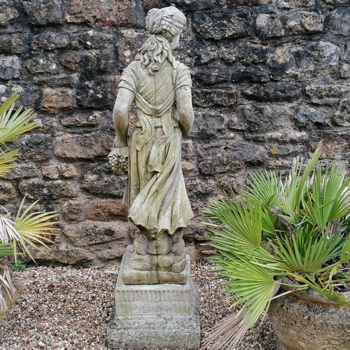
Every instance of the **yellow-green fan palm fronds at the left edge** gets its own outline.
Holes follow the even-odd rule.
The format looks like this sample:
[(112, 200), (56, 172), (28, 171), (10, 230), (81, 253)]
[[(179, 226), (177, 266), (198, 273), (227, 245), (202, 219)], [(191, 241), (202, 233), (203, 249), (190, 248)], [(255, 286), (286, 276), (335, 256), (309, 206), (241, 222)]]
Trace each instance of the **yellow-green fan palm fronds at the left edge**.
[[(15, 110), (15, 101), (18, 96), (18, 93), (15, 92), (0, 106), (0, 177), (5, 176), (15, 167), (14, 162), (18, 155), (18, 152), (8, 148), (6, 143), (38, 127), (38, 122), (32, 120), (34, 113), (31, 109), (20, 107)], [(3, 211), (3, 214), (0, 214), (0, 313), (8, 307), (6, 305), (8, 298), (5, 298), (3, 293), (6, 293), (10, 300), (15, 295), (15, 286), (6, 258), (13, 256), (17, 261), (19, 254), (27, 253), (34, 260), (29, 246), (40, 250), (39, 246), (46, 246), (45, 242), (52, 243), (48, 236), (52, 235), (52, 230), (56, 229), (52, 228), (55, 223), (50, 219), (58, 214), (31, 212), (36, 203), (24, 209), (25, 199), (23, 199), (14, 218), (11, 218), (6, 208), (0, 206)]]

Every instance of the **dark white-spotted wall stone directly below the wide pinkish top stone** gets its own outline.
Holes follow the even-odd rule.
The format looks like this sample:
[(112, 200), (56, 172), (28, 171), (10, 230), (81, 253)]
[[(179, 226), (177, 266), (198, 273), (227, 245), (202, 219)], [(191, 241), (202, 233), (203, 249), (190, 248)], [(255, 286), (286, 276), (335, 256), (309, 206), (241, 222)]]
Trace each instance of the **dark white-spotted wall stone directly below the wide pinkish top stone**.
[(73, 48), (106, 48), (113, 42), (113, 36), (104, 31), (91, 29), (89, 31), (78, 31), (71, 34), (71, 45)]

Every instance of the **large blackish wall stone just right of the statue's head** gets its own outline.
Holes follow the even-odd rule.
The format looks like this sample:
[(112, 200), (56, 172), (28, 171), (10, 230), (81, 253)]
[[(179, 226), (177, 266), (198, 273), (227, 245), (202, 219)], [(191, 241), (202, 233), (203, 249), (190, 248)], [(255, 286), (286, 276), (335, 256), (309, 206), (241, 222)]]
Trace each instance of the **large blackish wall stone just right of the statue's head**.
[(193, 27), (202, 38), (239, 38), (251, 30), (251, 19), (247, 13), (235, 15), (223, 13), (195, 13)]

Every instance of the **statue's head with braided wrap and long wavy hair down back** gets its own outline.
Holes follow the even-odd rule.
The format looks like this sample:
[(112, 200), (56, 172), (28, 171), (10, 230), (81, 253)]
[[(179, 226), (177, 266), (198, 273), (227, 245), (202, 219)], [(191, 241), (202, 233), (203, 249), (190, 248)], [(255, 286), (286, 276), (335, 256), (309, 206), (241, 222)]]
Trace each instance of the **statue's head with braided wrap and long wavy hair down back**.
[(153, 74), (167, 59), (173, 66), (175, 59), (170, 44), (186, 25), (186, 17), (174, 6), (153, 8), (146, 17), (146, 29), (151, 34), (139, 50), (136, 60)]

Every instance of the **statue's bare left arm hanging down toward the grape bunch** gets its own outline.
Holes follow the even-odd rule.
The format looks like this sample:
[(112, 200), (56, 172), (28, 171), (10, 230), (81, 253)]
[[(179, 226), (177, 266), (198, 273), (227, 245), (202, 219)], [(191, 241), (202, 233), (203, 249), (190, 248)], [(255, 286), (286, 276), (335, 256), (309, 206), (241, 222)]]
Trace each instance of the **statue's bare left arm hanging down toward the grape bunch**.
[(119, 88), (116, 103), (113, 109), (113, 124), (116, 130), (116, 139), (113, 147), (127, 146), (127, 127), (129, 125), (129, 109), (134, 101), (135, 94), (124, 87)]

